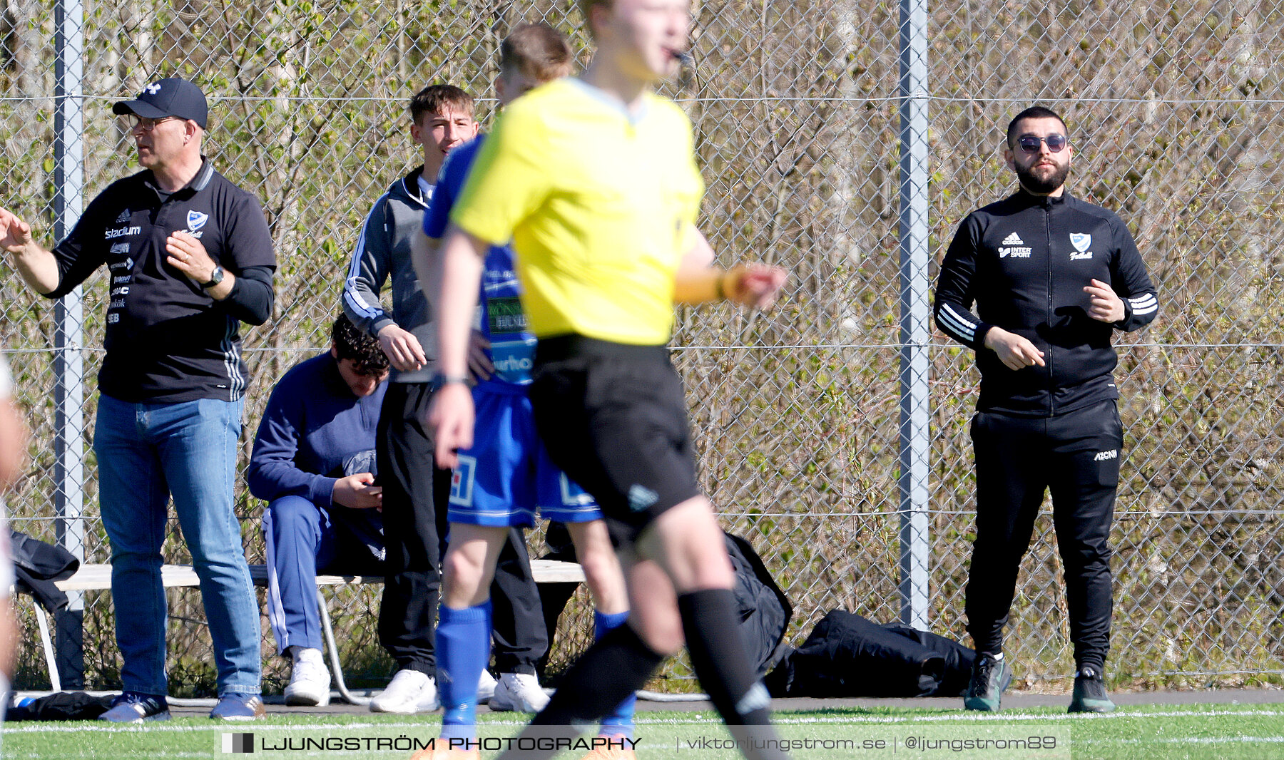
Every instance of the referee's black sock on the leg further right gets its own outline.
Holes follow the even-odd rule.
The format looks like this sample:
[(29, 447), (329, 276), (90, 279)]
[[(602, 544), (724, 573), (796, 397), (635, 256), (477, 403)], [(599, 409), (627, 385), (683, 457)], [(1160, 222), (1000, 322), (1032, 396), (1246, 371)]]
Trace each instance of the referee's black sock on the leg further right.
[[(686, 593), (678, 597), (682, 630), (696, 677), (713, 700), (714, 707), (727, 721), (732, 734), (745, 733), (758, 742), (742, 745), (746, 757), (774, 760), (788, 757), (773, 745), (776, 730), (770, 727), (770, 696), (758, 682), (745, 639), (736, 628), (736, 596), (727, 588)], [(755, 727), (751, 732), (736, 727)], [(765, 741), (764, 746), (761, 745)]]

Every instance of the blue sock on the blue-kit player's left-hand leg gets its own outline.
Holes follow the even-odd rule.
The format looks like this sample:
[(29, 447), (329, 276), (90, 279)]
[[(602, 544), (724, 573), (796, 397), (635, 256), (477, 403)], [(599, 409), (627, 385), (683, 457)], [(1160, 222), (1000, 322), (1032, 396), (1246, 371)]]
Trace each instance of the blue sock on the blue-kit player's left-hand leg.
[(442, 605), (437, 619), (438, 696), (446, 714), (443, 738), (476, 738), (478, 679), (490, 659), (490, 601), (453, 610)]

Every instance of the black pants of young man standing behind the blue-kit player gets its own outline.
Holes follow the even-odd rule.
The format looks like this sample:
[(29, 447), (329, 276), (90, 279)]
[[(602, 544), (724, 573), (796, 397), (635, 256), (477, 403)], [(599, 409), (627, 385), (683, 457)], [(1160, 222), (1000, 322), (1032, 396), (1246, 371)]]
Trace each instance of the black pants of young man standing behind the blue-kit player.
[[(388, 548), (379, 642), (398, 666), (437, 677), (434, 635), (442, 588), (440, 562), (451, 471), (438, 470), (424, 425), (433, 394), (428, 383), (390, 383), (379, 412), (376, 457), (384, 488)], [(548, 650), (539, 589), (517, 528), (499, 552), (490, 585), (494, 659), (499, 673), (535, 673)]]

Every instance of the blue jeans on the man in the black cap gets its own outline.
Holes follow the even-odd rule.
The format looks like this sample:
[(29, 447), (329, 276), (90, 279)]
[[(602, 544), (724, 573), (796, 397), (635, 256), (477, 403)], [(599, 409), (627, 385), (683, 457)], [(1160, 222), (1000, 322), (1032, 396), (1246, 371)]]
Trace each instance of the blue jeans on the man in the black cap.
[(240, 401), (127, 403), (99, 395), (94, 452), (126, 691), (167, 693), (160, 547), (172, 494), (200, 579), (218, 695), (259, 693), (258, 602), (232, 512), (240, 415)]

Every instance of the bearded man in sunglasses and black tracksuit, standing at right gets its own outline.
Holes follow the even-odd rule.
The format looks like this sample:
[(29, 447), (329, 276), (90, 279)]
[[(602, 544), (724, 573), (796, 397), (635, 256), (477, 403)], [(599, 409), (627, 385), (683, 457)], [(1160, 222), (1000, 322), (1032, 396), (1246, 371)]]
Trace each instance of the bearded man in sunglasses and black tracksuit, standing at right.
[[(1066, 123), (1034, 107), (1008, 125), (1021, 187), (959, 225), (936, 284), (936, 325), (976, 350), (976, 540), (966, 591), (977, 651), (964, 706), (998, 710), (1012, 680), (1003, 626), (1044, 492), (1075, 647), (1071, 712), (1115, 709), (1102, 682), (1111, 630), (1109, 530), (1124, 454), (1115, 330), (1158, 313), (1127, 226), (1066, 193)], [(976, 313), (972, 304), (976, 303)]]

